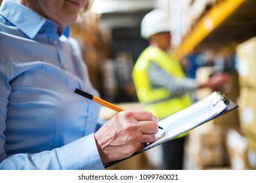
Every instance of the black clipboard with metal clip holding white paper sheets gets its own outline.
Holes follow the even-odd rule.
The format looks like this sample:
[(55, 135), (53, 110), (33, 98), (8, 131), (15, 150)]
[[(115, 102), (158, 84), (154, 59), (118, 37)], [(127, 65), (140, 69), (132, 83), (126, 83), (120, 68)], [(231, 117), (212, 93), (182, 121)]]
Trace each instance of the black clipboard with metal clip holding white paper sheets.
[[(206, 122), (209, 122), (231, 110), (237, 108), (238, 105), (233, 101), (230, 101), (221, 92), (213, 92), (205, 99), (194, 103), (190, 107), (184, 108), (183, 110), (164, 118), (158, 122), (164, 130), (159, 130), (156, 134), (156, 141), (147, 144), (144, 148), (129, 156), (128, 158), (120, 159), (104, 165), (105, 168), (115, 165), (125, 159), (129, 159), (137, 154), (150, 150), (155, 146), (163, 144), (166, 141), (186, 133)], [(167, 110), (167, 109), (166, 109)]]

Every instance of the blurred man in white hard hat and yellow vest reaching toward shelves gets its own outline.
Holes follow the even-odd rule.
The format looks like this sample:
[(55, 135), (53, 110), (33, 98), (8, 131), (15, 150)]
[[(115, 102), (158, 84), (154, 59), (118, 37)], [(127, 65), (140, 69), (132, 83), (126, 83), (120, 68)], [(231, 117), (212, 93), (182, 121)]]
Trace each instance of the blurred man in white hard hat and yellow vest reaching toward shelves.
[[(159, 120), (192, 105), (190, 94), (195, 90), (205, 87), (220, 90), (227, 84), (227, 74), (212, 76), (204, 84), (186, 78), (181, 64), (169, 52), (171, 25), (163, 10), (155, 9), (144, 16), (140, 34), (150, 45), (135, 63), (133, 81), (139, 101)], [(182, 169), (187, 134), (162, 144), (163, 169)]]

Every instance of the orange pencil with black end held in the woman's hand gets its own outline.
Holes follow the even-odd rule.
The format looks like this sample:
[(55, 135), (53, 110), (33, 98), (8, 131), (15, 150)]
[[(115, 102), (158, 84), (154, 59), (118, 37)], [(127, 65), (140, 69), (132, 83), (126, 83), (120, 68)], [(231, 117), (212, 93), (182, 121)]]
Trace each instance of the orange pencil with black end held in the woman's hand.
[[(108, 107), (108, 108), (112, 108), (113, 110), (116, 110), (117, 112), (121, 112), (122, 110), (125, 110), (121, 107), (118, 107), (117, 105), (114, 105), (112, 103), (109, 103), (108, 101), (104, 101), (103, 99), (100, 99), (98, 97), (95, 97), (93, 95), (91, 95), (90, 93), (87, 93), (87, 92), (83, 92), (82, 90), (79, 90), (77, 88), (75, 88), (75, 93), (79, 94), (79, 95), (82, 95), (83, 97), (87, 98), (87, 99), (90, 99), (92, 101), (95, 101), (96, 103), (99, 103), (101, 105), (104, 105), (105, 107)], [(158, 126), (160, 129), (163, 129), (163, 127), (160, 127)]]

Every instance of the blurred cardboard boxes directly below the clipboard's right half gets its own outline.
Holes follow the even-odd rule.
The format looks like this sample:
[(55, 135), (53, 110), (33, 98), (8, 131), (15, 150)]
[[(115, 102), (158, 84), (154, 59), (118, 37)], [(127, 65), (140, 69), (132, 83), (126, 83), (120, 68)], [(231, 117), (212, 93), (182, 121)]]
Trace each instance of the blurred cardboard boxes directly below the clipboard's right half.
[(213, 121), (193, 129), (186, 142), (189, 169), (223, 169), (229, 167), (226, 150), (226, 131)]

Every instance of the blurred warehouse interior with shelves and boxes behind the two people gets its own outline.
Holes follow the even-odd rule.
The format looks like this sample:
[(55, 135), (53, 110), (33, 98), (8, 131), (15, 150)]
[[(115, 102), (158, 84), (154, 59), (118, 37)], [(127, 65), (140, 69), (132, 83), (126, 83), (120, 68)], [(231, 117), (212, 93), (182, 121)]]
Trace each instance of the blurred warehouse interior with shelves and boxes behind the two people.
[[(142, 108), (131, 70), (148, 46), (140, 22), (154, 8), (169, 15), (173, 52), (186, 75), (204, 82), (216, 72), (230, 73), (232, 82), (222, 92), (239, 105), (190, 133), (185, 169), (256, 169), (255, 0), (94, 0), (91, 11), (70, 25), (93, 85), (107, 101)], [(200, 100), (211, 92), (194, 95)], [(100, 118), (113, 115), (102, 108)], [(110, 169), (161, 169), (160, 156), (154, 148)]]

